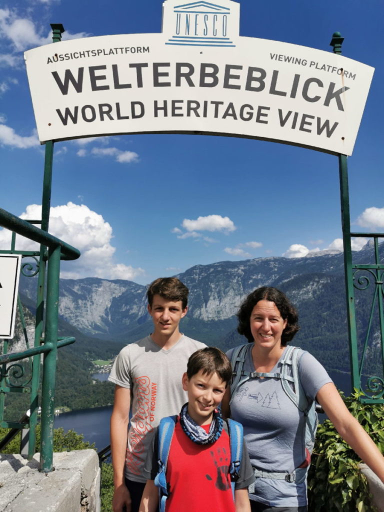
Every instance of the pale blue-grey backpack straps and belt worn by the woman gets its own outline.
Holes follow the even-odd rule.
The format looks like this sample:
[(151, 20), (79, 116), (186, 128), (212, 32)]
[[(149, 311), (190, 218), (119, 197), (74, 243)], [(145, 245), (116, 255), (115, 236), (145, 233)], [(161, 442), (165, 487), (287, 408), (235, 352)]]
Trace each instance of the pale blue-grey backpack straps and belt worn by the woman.
[[(286, 395), (292, 400), (298, 410), (302, 411), (305, 416), (305, 453), (310, 457), (313, 451), (315, 442), (315, 435), (317, 430), (318, 418), (316, 413), (316, 402), (308, 400), (303, 386), (300, 382), (298, 375), (298, 360), (304, 353), (304, 350), (298, 347), (292, 347), (288, 345), (284, 351), (283, 358), (281, 360), (282, 370), (281, 373), (264, 373), (264, 372), (246, 372), (243, 370), (244, 362), (248, 357), (248, 352), (251, 350), (253, 344), (246, 343), (240, 345), (234, 349), (231, 357), (231, 365), (233, 370), (233, 376), (231, 380), (231, 398), (229, 403), (233, 399), (234, 392), (244, 384), (250, 378), (257, 377), (271, 377), (280, 379), (283, 390)], [(288, 369), (291, 368), (291, 372)], [(293, 383), (293, 388), (292, 388)], [(309, 461), (308, 461), (309, 466)], [(261, 478), (273, 478), (277, 480), (286, 480), (287, 482), (300, 483), (305, 480), (308, 467), (298, 467), (293, 473), (274, 473), (266, 471), (254, 470), (255, 477)]]

